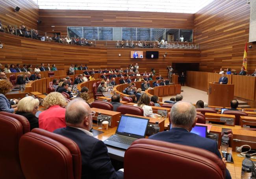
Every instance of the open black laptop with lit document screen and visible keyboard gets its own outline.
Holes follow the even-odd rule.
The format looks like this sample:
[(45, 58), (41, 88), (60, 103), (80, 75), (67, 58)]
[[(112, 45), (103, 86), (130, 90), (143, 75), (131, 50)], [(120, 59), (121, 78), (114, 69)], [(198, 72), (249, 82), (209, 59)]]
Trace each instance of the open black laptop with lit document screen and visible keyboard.
[(114, 135), (104, 140), (108, 146), (121, 149), (128, 147), (138, 138), (145, 138), (149, 119), (122, 115)]

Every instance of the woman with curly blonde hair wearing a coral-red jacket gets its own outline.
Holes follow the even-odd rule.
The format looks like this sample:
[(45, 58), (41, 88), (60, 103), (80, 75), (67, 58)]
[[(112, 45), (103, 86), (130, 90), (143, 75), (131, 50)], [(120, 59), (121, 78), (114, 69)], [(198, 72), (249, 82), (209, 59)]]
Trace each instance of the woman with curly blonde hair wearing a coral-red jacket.
[(59, 92), (51, 92), (44, 101), (45, 111), (39, 114), (39, 128), (53, 132), (55, 129), (66, 127), (65, 106), (67, 102)]

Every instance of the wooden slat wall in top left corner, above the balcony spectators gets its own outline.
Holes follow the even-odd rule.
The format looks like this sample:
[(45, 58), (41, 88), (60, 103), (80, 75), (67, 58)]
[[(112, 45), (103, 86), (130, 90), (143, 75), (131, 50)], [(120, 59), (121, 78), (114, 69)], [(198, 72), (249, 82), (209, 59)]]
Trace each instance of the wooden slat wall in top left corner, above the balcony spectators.
[[(14, 8), (20, 7), (19, 12)], [(3, 25), (20, 26), (24, 24), (29, 29), (37, 29), (39, 8), (33, 0), (0, 0), (0, 20)]]

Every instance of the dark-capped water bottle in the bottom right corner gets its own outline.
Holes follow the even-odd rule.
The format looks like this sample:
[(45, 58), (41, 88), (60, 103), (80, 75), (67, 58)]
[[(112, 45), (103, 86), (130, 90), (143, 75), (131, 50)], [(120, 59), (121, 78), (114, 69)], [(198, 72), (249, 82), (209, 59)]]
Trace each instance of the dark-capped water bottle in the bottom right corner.
[(245, 155), (245, 159), (242, 162), (241, 179), (250, 179), (252, 176), (253, 163), (250, 160), (250, 154)]

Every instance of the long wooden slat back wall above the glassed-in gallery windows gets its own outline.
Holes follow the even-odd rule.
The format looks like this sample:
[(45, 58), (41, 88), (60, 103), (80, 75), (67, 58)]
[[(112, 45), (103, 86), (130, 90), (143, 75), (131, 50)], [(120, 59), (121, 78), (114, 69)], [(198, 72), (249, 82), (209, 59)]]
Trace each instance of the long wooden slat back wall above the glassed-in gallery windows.
[(176, 29), (194, 27), (194, 14), (186, 13), (39, 9), (39, 16), (42, 20), (39, 30), (54, 30), (61, 32), (61, 35), (67, 35), (67, 26)]

